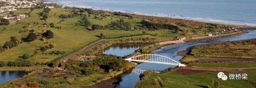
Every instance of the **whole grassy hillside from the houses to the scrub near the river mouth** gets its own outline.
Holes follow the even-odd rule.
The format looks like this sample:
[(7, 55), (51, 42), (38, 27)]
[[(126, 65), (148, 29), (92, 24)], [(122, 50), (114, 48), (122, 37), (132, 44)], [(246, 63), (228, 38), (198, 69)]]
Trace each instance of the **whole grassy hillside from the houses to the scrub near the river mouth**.
[[(223, 26), (215, 26), (211, 27), (213, 24), (206, 24), (204, 23), (204, 27), (201, 28), (194, 28), (193, 26), (179, 26), (181, 23), (170, 23), (178, 26), (180, 28), (180, 31), (178, 33), (175, 33), (174, 30), (150, 30), (142, 27), (142, 24), (140, 23), (143, 19), (151, 20), (151, 22), (159, 22), (162, 23), (162, 20), (154, 20), (153, 18), (148, 18), (145, 16), (145, 18), (142, 18), (143, 16), (134, 16), (134, 17), (127, 17), (127, 16), (116, 16), (113, 15), (112, 12), (104, 12), (104, 11), (96, 11), (100, 14), (106, 15), (104, 18), (99, 19), (95, 18), (94, 16), (101, 17), (100, 15), (90, 14), (91, 16), (87, 16), (87, 19), (89, 20), (90, 24), (98, 24), (100, 26), (109, 25), (110, 28), (108, 30), (86, 30), (84, 26), (76, 25), (78, 20), (81, 20), (82, 16), (75, 16), (74, 18), (60, 18), (60, 14), (71, 14), (72, 11), (76, 9), (74, 8), (54, 8), (50, 10), (50, 13), (48, 14), (48, 19), (42, 20), (42, 16), (40, 16), (40, 12), (43, 11), (43, 9), (20, 9), (15, 11), (15, 14), (22, 14), (22, 13), (30, 13), (30, 17), (23, 18), (22, 20), (18, 22), (10, 23), (7, 26), (0, 26), (0, 45), (4, 45), (6, 41), (10, 41), (11, 36), (15, 36), (20, 42), (22, 41), (22, 38), (26, 38), (28, 35), (28, 31), (35, 30), (35, 33), (41, 34), (42, 32), (46, 30), (51, 30), (54, 33), (54, 38), (49, 40), (35, 40), (32, 42), (22, 42), (18, 46), (5, 50), (4, 52), (0, 53), (0, 60), (2, 61), (12, 61), (15, 60), (15, 58), (18, 58), (19, 56), (22, 56), (23, 54), (33, 54), (37, 49), (39, 49), (42, 46), (47, 46), (48, 44), (53, 44), (54, 48), (49, 49), (45, 52), (41, 52), (38, 50), (38, 54), (35, 54), (28, 60), (32, 62), (48, 62), (50, 60), (53, 60), (54, 58), (57, 58), (62, 55), (57, 54), (51, 54), (51, 52), (65, 52), (66, 54), (69, 54), (70, 52), (73, 52), (74, 50), (78, 50), (81, 47), (84, 47), (86, 44), (99, 39), (97, 36), (100, 35), (101, 32), (105, 34), (106, 38), (116, 38), (120, 36), (129, 36), (134, 34), (142, 34), (143, 31), (146, 31), (148, 34), (156, 34), (156, 36), (151, 36), (154, 38), (157, 38), (158, 40), (168, 40), (163, 36), (171, 36), (171, 37), (188, 37), (191, 38), (193, 36), (206, 36), (208, 34), (209, 30), (222, 30)], [(88, 15), (88, 12), (79, 12), (80, 14)], [(6, 13), (8, 14), (8, 13)], [(131, 14), (130, 14), (131, 15)], [(129, 22), (131, 24), (132, 30), (113, 30), (113, 27), (111, 26), (111, 22), (114, 22), (116, 20), (124, 19), (125, 22)], [(152, 20), (153, 19), (153, 20)], [(162, 18), (161, 18), (162, 19)], [(63, 20), (63, 21), (61, 21)], [(168, 19), (170, 21), (170, 19)], [(166, 20), (167, 21), (167, 20)], [(39, 24), (34, 24), (34, 23)], [(54, 25), (62, 26), (62, 29), (57, 28), (51, 28), (49, 26), (44, 26), (43, 24), (49, 25), (50, 23), (54, 23)], [(184, 21), (185, 23), (188, 23), (188, 21)], [(166, 22), (168, 23), (168, 22)], [(27, 24), (30, 24), (26, 28), (23, 28)], [(202, 23), (200, 23), (202, 24)], [(138, 28), (137, 30), (134, 30), (134, 27)], [(209, 29), (209, 27), (213, 29)], [(2, 30), (6, 28), (6, 30)], [(91, 28), (89, 26), (88, 28)], [(232, 31), (230, 31), (232, 32)], [(144, 36), (136, 36), (134, 38), (144, 38), (147, 35)], [(173, 38), (170, 38), (172, 40)]]

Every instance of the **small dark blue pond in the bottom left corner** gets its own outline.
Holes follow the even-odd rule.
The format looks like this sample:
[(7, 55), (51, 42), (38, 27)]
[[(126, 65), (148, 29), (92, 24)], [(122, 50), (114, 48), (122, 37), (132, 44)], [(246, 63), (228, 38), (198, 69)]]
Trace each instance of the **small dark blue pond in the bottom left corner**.
[(23, 77), (27, 72), (25, 71), (0, 71), (0, 84)]

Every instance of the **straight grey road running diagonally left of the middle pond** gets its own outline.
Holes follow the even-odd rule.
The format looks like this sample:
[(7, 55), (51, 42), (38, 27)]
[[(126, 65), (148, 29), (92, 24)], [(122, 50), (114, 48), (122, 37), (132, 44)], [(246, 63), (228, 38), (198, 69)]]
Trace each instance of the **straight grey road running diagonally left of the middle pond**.
[(94, 43), (92, 43), (92, 44), (90, 44), (90, 45), (84, 47), (83, 49), (81, 49), (81, 50), (79, 50), (79, 51), (77, 51), (77, 52), (74, 52), (73, 54), (70, 54), (70, 55), (68, 55), (68, 56), (66, 56), (66, 57), (64, 57), (64, 58), (62, 58), (60, 61), (62, 62), (63, 60), (68, 60), (68, 59), (70, 59), (70, 58), (73, 58), (73, 57), (75, 57), (75, 56), (77, 56), (77, 55), (79, 55), (79, 54), (82, 54), (83, 52), (89, 50), (90, 48), (92, 48), (92, 47), (94, 47), (94, 46), (96, 46), (96, 45), (98, 45), (98, 44), (100, 44), (100, 43), (102, 43), (102, 42), (105, 42), (105, 41), (106, 41), (106, 39), (98, 40), (97, 42), (94, 42)]

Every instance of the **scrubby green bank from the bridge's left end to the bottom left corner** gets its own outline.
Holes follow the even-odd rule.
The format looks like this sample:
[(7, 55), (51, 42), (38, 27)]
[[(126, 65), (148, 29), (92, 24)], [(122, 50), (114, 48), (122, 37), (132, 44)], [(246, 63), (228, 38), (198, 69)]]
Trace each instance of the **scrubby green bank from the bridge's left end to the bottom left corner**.
[[(8, 84), (7, 88), (12, 88), (16, 86), (30, 86), (31, 82), (34, 82), (38, 87), (57, 87), (57, 86), (88, 86), (100, 82), (101, 80), (110, 79), (126, 70), (134, 67), (134, 64), (122, 60), (117, 56), (102, 55), (102, 58), (96, 58), (92, 61), (68, 61), (58, 64), (59, 68), (64, 68), (68, 72), (60, 72), (55, 70), (50, 70), (50, 74), (47, 77), (57, 77), (57, 78), (38, 78), (34, 75), (27, 79), (22, 79), (16, 81), (12, 84)], [(75, 76), (68, 76), (65, 78), (58, 78), (65, 74), (74, 74)], [(38, 72), (42, 73), (42, 72)], [(30, 73), (32, 74), (32, 73)], [(0, 85), (1, 86), (1, 85)]]

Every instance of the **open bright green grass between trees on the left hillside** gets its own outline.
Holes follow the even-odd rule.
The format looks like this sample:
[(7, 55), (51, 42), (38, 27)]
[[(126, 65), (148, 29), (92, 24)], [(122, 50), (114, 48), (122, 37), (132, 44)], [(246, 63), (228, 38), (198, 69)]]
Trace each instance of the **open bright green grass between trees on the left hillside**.
[[(28, 9), (22, 9), (15, 11), (15, 14), (20, 14), (21, 12), (29, 12)], [(50, 16), (45, 20), (40, 20), (39, 12), (42, 12), (42, 9), (36, 9), (31, 13), (31, 17), (22, 19), (19, 22), (14, 22), (9, 24), (8, 26), (0, 26), (0, 29), (6, 28), (7, 30), (0, 30), (0, 45), (3, 45), (4, 42), (9, 41), (11, 36), (16, 36), (17, 39), (26, 38), (28, 33), (19, 33), (19, 30), (28, 23), (31, 25), (28, 27), (29, 29), (34, 29), (36, 32), (41, 31), (42, 24), (50, 22), (55, 23), (55, 26), (62, 26), (62, 30), (58, 30), (55, 28), (47, 28), (47, 30), (52, 30), (54, 32), (54, 38), (46, 41), (36, 40), (33, 42), (23, 42), (19, 44), (15, 48), (11, 48), (9, 50), (5, 50), (0, 53), (0, 60), (3, 61), (11, 61), (18, 58), (18, 56), (22, 56), (24, 53), (33, 54), (33, 52), (40, 48), (41, 46), (46, 46), (45, 42), (51, 42), (54, 45), (52, 50), (47, 50), (46, 54), (42, 54), (42, 52), (38, 52), (32, 58), (29, 58), (32, 62), (47, 62), (54, 58), (59, 57), (60, 55), (56, 54), (47, 54), (52, 51), (61, 51), (61, 52), (72, 52), (73, 50), (77, 50), (78, 48), (85, 46), (91, 41), (97, 40), (98, 35), (103, 32), (106, 37), (114, 38), (118, 36), (129, 36), (132, 34), (142, 34), (142, 30), (140, 31), (124, 31), (124, 30), (86, 30), (83, 26), (75, 26), (75, 23), (80, 20), (82, 17), (77, 16), (74, 18), (68, 18), (65, 21), (57, 24), (62, 20), (58, 16), (60, 14), (70, 14), (70, 10), (66, 10), (64, 8), (56, 8), (52, 9), (50, 12)], [(94, 19), (93, 17), (89, 17), (88, 20), (91, 24), (99, 24), (99, 25), (107, 25), (114, 20), (119, 20), (119, 17), (110, 17), (104, 18), (103, 20)], [(124, 18), (124, 17), (123, 17)], [(125, 21), (131, 22), (133, 26), (139, 25), (137, 22), (140, 22), (140, 19), (126, 19)], [(33, 22), (38, 22), (39, 25), (33, 24)], [(28, 29), (27, 28), (27, 29)], [(46, 29), (45, 29), (46, 30)], [(159, 35), (176, 35), (172, 32), (168, 32), (167, 30), (158, 30), (155, 32), (148, 31), (151, 34), (159, 34)]]

